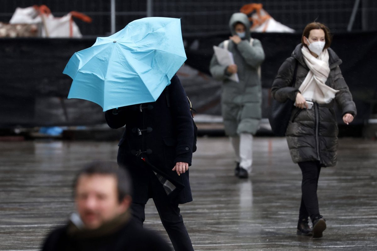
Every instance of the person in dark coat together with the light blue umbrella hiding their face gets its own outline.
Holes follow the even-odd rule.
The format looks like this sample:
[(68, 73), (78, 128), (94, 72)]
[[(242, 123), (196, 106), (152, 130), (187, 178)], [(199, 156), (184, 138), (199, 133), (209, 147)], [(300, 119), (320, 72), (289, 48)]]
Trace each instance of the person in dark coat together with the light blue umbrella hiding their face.
[(150, 17), (97, 38), (64, 70), (74, 79), (69, 98), (100, 104), (110, 128), (125, 126), (117, 159), (133, 180), (132, 216), (143, 226), (152, 198), (176, 251), (193, 250), (178, 206), (192, 201), (194, 128), (175, 75), (185, 60), (180, 20)]

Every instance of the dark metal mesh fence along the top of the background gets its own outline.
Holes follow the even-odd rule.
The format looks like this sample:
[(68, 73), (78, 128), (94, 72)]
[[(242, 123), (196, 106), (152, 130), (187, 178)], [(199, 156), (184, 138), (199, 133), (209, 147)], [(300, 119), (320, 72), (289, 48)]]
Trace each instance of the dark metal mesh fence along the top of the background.
[[(325, 23), (332, 32), (347, 29), (356, 0), (260, 0), (260, 1), (202, 1), (152, 0), (155, 17), (182, 18), (184, 35), (208, 35), (229, 32), (228, 20), (234, 12), (248, 3), (262, 3), (264, 9), (282, 24), (301, 32), (314, 20)], [(132, 20), (146, 17), (147, 0), (115, 0), (116, 30)], [(110, 34), (110, 0), (2, 0), (0, 21), (8, 22), (16, 7), (47, 5), (56, 17), (69, 11), (79, 11), (93, 18), (91, 24), (78, 20), (84, 36)], [(377, 1), (361, 0), (352, 30), (376, 30)]]

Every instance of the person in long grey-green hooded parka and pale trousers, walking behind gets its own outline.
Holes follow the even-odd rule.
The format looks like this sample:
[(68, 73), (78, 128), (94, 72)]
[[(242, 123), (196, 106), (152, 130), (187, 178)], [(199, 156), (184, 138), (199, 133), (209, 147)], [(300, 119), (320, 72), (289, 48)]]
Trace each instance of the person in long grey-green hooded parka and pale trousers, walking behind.
[[(229, 21), (232, 37), (219, 47), (233, 53), (234, 65), (220, 65), (216, 55), (210, 64), (212, 76), (223, 82), (221, 105), (225, 133), (230, 136), (237, 157), (236, 176), (247, 178), (252, 165), (252, 140), (262, 117), (260, 65), (264, 51), (259, 40), (250, 37), (247, 15), (234, 13)], [(237, 73), (239, 82), (230, 79)]]

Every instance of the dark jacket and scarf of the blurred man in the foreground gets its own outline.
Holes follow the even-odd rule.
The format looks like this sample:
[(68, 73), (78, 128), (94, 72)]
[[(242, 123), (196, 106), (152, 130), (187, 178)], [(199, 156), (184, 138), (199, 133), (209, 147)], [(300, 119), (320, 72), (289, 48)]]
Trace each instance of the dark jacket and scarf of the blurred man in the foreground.
[(69, 221), (52, 231), (42, 251), (171, 251), (158, 234), (145, 230), (122, 214), (95, 230), (79, 229)]

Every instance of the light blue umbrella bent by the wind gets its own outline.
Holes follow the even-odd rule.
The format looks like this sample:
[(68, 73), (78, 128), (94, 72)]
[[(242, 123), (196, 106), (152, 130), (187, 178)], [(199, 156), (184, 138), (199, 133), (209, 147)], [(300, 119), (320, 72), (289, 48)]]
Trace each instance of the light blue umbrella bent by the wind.
[(138, 19), (69, 59), (63, 71), (73, 79), (68, 98), (103, 111), (154, 102), (185, 60), (180, 19)]

